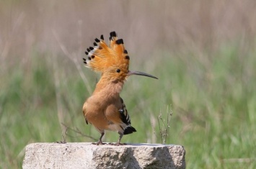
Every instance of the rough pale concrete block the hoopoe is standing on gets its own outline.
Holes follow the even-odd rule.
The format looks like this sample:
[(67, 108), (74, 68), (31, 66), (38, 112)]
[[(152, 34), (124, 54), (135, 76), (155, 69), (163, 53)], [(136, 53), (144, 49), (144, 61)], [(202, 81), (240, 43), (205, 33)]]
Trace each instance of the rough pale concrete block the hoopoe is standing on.
[(88, 142), (32, 143), (22, 167), (29, 168), (185, 168), (181, 145), (92, 145)]

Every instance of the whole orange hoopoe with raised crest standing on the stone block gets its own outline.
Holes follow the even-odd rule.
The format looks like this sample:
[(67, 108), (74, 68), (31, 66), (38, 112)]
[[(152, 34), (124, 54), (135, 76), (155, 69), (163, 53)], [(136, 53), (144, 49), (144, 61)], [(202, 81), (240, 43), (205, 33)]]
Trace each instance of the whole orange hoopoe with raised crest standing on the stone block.
[(101, 35), (100, 40), (96, 38), (94, 47), (87, 48), (85, 54), (88, 56), (88, 59), (83, 58), (85, 66), (101, 73), (92, 96), (83, 106), (86, 123), (92, 124), (101, 134), (100, 140), (93, 144), (103, 145), (105, 130), (111, 130), (120, 135), (118, 142), (112, 145), (125, 145), (120, 143), (123, 135), (136, 132), (136, 129), (131, 127), (128, 111), (120, 98), (123, 84), (131, 75), (156, 77), (128, 69), (130, 57), (123, 45), (123, 39), (118, 39), (115, 32), (110, 32), (109, 46)]

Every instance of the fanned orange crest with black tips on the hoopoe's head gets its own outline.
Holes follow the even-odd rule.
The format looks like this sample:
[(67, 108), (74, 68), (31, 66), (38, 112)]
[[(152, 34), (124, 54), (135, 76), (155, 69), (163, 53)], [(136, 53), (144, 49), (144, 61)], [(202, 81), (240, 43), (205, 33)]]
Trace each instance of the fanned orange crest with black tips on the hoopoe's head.
[(85, 66), (98, 72), (105, 72), (108, 68), (118, 65), (128, 70), (129, 56), (123, 46), (123, 39), (118, 39), (115, 32), (110, 32), (110, 44), (107, 45), (103, 35), (95, 39), (94, 47), (87, 48), (83, 58)]

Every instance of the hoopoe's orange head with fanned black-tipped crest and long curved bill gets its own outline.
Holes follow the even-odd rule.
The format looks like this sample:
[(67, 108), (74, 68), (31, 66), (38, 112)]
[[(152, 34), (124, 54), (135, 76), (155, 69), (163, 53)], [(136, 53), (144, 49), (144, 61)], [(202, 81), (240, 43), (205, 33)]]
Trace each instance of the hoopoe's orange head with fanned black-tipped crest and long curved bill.
[(123, 39), (118, 39), (115, 32), (110, 32), (109, 46), (101, 35), (100, 40), (96, 38), (94, 47), (87, 48), (85, 54), (88, 56), (88, 59), (83, 58), (85, 66), (102, 73), (107, 81), (123, 82), (131, 75), (156, 78), (147, 73), (129, 70), (130, 57), (123, 45)]

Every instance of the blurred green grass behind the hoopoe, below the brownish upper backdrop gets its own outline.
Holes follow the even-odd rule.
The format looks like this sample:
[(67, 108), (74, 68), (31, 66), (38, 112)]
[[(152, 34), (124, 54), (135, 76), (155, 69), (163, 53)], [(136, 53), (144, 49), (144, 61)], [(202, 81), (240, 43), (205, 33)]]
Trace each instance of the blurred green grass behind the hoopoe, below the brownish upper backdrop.
[[(121, 96), (137, 132), (123, 142), (161, 143), (157, 117), (162, 114), (166, 122), (172, 111), (167, 144), (185, 147), (187, 168), (256, 168), (256, 52), (229, 44), (204, 51), (204, 59), (193, 51), (158, 53), (154, 62), (131, 58), (131, 68), (159, 80), (133, 76), (125, 83)], [(74, 63), (48, 53), (31, 56), (29, 63), (1, 74), (1, 168), (20, 168), (31, 142), (61, 140), (61, 122), (100, 137), (84, 122), (81, 108), (89, 91)], [(82, 70), (94, 88), (99, 76)], [(115, 132), (104, 138), (117, 140)], [(94, 142), (70, 129), (67, 141)], [(254, 160), (229, 161), (233, 158)]]

